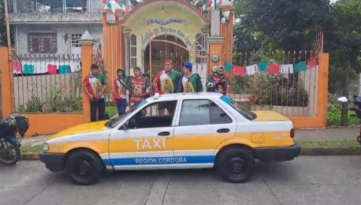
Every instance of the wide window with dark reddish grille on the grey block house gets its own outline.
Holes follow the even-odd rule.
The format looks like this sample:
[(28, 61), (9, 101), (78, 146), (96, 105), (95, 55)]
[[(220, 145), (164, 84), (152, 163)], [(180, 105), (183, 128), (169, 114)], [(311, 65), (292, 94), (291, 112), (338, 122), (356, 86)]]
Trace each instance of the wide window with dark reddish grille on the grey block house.
[(28, 33), (27, 49), (29, 52), (57, 52), (56, 33)]

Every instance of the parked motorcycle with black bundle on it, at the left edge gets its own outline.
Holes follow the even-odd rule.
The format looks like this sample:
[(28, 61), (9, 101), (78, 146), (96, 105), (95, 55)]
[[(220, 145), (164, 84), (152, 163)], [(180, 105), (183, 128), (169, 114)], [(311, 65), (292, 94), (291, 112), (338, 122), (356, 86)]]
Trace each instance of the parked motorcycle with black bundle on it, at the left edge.
[(17, 134), (24, 137), (29, 129), (25, 115), (12, 114), (0, 120), (0, 163), (7, 166), (16, 164), (20, 157), (20, 142)]

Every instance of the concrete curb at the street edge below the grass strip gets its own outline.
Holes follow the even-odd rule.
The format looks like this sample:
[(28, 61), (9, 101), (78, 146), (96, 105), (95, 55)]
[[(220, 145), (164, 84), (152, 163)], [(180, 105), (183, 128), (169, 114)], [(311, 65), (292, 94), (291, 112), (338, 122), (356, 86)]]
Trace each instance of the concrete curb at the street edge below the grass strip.
[[(301, 156), (343, 156), (343, 155), (361, 155), (361, 147), (303, 147)], [(39, 160), (39, 154), (23, 153), (23, 160)]]

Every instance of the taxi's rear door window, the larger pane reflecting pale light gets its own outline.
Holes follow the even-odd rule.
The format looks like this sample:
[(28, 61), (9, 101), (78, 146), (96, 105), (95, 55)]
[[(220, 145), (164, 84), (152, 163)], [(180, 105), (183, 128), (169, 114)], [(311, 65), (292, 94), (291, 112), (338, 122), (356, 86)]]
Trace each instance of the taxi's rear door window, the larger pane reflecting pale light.
[(179, 126), (210, 124), (209, 100), (183, 100)]

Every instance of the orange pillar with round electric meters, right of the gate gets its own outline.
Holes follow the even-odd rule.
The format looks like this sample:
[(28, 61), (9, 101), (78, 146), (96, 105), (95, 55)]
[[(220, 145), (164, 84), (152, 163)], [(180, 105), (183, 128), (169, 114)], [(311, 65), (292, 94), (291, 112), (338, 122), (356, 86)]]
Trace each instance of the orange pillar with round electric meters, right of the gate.
[(208, 37), (208, 43), (209, 43), (209, 67), (207, 76), (213, 75), (212, 68), (214, 66), (223, 65), (222, 59), (221, 59), (221, 45), (224, 40), (224, 37)]

